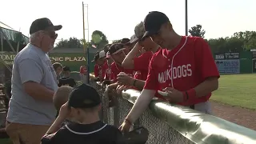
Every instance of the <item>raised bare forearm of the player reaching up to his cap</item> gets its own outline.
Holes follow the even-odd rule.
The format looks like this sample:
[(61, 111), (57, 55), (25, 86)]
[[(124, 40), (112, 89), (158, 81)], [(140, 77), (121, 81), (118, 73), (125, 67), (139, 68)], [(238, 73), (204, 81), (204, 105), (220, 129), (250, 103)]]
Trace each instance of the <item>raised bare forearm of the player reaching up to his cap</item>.
[(122, 61), (122, 67), (126, 69), (133, 69), (134, 68), (134, 58), (139, 52), (138, 45), (135, 45), (132, 50), (130, 50), (130, 53), (127, 54), (126, 58)]

